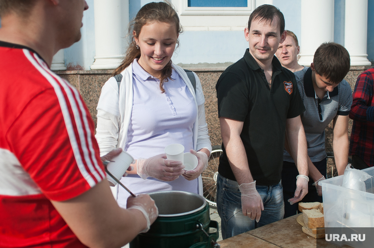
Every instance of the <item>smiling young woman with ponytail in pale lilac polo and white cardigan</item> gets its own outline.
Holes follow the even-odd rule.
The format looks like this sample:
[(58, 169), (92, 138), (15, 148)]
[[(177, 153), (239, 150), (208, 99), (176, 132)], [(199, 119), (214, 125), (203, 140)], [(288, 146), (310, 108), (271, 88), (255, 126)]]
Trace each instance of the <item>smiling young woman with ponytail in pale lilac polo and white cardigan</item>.
[[(201, 172), (212, 150), (205, 121), (204, 94), (195, 73), (194, 90), (186, 72), (171, 62), (182, 32), (178, 14), (165, 2), (144, 5), (132, 21), (122, 74), (103, 86), (97, 106), (96, 139), (100, 154), (122, 148), (136, 163), (121, 182), (135, 194), (182, 190), (202, 194)], [(198, 158), (194, 170), (166, 159), (164, 148), (182, 144)], [(197, 152), (196, 152), (197, 151)], [(114, 190), (121, 207), (127, 191)]]

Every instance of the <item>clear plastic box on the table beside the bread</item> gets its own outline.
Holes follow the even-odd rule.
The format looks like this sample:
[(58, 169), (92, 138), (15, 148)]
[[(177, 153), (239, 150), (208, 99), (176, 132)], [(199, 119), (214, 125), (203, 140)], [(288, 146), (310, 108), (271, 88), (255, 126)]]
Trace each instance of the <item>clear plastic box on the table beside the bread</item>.
[[(374, 176), (374, 167), (364, 170)], [(322, 186), (325, 227), (374, 227), (373, 178), (366, 192), (342, 186), (343, 175), (319, 182)]]

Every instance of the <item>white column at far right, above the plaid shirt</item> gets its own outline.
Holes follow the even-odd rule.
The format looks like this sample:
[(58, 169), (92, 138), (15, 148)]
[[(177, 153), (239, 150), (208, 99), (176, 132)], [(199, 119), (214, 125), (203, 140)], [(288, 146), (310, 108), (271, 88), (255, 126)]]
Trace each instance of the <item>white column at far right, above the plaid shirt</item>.
[(366, 54), (368, 35), (368, 0), (345, 0), (344, 47), (351, 66), (370, 66)]

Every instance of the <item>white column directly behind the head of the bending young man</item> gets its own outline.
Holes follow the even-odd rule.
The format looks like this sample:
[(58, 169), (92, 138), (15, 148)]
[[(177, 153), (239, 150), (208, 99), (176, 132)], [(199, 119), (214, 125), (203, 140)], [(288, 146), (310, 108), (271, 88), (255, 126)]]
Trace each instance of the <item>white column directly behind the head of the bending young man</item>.
[(310, 66), (323, 42), (334, 41), (334, 0), (301, 0), (299, 64)]

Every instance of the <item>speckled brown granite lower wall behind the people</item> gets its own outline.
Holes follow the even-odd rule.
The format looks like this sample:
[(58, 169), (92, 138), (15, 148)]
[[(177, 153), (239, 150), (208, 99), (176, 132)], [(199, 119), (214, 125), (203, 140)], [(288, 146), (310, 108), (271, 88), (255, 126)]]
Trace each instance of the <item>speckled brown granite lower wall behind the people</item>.
[[(345, 77), (354, 90), (356, 79), (361, 72), (370, 67), (364, 66), (352, 66), (351, 70)], [(207, 69), (207, 68), (187, 68), (196, 72), (200, 78), (204, 95), (205, 95), (205, 112), (206, 119), (209, 127), (209, 135), (211, 136), (212, 145), (220, 145), (222, 140), (220, 137), (219, 120), (217, 114), (217, 97), (216, 97), (216, 82), (223, 72), (224, 68), (219, 69)], [(112, 70), (91, 70), (91, 71), (58, 71), (56, 72), (62, 78), (69, 81), (74, 87), (76, 87), (82, 94), (85, 100), (91, 116), (96, 124), (96, 105), (100, 96), (101, 87), (104, 85), (106, 80), (110, 77)], [(352, 120), (349, 120), (348, 135), (352, 127)], [(326, 151), (332, 152), (332, 123), (326, 128)], [(330, 171), (328, 173), (334, 174), (335, 169), (333, 161), (329, 161), (331, 164)], [(332, 171), (331, 171), (332, 169)]]

